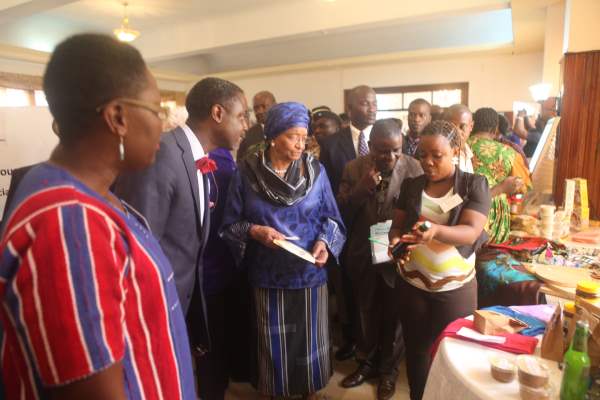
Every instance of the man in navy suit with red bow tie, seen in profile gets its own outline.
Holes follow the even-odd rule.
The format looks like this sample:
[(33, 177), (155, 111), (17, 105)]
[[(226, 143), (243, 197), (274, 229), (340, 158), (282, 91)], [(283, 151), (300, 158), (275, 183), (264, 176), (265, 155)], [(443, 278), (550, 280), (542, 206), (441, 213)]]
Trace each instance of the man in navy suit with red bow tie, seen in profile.
[[(120, 176), (116, 194), (147, 219), (173, 267), (175, 284), (187, 316), (196, 358), (198, 390), (203, 400), (222, 400), (221, 377), (211, 375), (207, 310), (203, 295), (203, 251), (209, 235), (209, 175), (206, 156), (222, 147), (233, 150), (248, 128), (243, 91), (218, 78), (196, 83), (186, 99), (185, 125), (163, 134), (155, 163)], [(221, 190), (225, 190), (221, 188)], [(210, 310), (208, 310), (210, 312)]]

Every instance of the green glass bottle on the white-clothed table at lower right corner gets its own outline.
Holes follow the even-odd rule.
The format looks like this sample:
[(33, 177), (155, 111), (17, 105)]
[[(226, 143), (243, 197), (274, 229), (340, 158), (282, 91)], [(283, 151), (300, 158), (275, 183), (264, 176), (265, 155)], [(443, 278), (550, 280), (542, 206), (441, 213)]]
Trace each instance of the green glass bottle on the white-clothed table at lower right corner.
[(590, 383), (590, 356), (587, 353), (589, 335), (587, 321), (577, 321), (575, 335), (565, 353), (560, 400), (584, 400)]

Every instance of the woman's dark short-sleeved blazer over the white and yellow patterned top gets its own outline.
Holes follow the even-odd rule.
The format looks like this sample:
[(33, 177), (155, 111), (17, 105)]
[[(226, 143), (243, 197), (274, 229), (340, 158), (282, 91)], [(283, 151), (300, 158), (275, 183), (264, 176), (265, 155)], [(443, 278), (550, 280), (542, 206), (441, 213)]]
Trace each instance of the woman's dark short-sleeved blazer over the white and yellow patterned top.
[[(402, 232), (410, 231), (419, 220), (419, 216), (421, 215), (421, 200), (426, 184), (427, 177), (425, 175), (406, 179), (402, 183), (400, 197), (396, 203), (396, 208), (406, 212)], [(484, 176), (470, 174), (456, 168), (456, 173), (454, 174), (454, 193), (457, 193), (463, 201), (450, 210), (448, 226), (458, 224), (463, 209), (471, 209), (480, 212), (486, 217), (488, 216), (492, 197), (487, 179)], [(456, 249), (464, 258), (468, 258), (471, 254), (477, 252), (487, 240), (488, 235), (485, 229), (483, 229), (481, 235), (473, 245), (456, 246)]]

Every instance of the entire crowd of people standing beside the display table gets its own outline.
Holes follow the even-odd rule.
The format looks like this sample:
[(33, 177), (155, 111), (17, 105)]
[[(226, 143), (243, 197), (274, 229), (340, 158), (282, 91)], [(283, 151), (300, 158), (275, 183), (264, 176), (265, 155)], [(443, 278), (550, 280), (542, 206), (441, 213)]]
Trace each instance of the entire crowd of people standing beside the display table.
[[(57, 46), (43, 86), (59, 145), (13, 178), (2, 220), (8, 399), (222, 400), (231, 380), (318, 399), (351, 358), (344, 388), (377, 378), (387, 400), (405, 359), (420, 399), (434, 340), (477, 308), (476, 254), (531, 188), (531, 121), (491, 108), (417, 99), (404, 132), (366, 85), (344, 115), (261, 91), (249, 126), (243, 90), (205, 78), (161, 133), (142, 56), (95, 34)], [(406, 250), (373, 264), (390, 220)]]

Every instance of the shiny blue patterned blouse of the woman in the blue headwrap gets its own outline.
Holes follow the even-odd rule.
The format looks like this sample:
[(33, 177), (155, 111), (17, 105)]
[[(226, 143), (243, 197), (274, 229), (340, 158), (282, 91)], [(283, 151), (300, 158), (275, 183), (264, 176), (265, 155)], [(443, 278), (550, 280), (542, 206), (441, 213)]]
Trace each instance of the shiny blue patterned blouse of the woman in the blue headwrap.
[(345, 227), (324, 169), (306, 196), (292, 206), (276, 205), (252, 188), (243, 169), (231, 180), (221, 237), (229, 244), (238, 265), (248, 268), (255, 287), (307, 288), (327, 281), (325, 268), (319, 268), (283, 249), (272, 249), (248, 237), (252, 224), (270, 226), (294, 243), (311, 251), (322, 240), (334, 257), (345, 242)]

